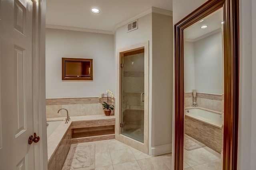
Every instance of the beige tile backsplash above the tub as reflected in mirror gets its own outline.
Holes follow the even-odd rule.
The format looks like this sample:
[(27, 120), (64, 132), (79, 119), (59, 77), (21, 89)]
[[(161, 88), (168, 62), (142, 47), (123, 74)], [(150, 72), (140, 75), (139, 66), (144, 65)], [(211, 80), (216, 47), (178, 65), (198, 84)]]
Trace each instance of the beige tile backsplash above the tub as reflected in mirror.
[[(222, 112), (224, 110), (224, 94), (196, 93), (196, 104), (198, 107)], [(194, 98), (191, 93), (185, 93), (185, 107), (193, 105)]]

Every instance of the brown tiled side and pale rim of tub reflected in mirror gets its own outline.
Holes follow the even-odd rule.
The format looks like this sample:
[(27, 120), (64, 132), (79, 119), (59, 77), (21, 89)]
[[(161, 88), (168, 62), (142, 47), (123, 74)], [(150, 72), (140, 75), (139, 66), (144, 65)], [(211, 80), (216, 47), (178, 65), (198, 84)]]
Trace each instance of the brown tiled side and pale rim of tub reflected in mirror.
[(185, 111), (184, 133), (218, 153), (223, 149), (223, 126), (212, 120)]

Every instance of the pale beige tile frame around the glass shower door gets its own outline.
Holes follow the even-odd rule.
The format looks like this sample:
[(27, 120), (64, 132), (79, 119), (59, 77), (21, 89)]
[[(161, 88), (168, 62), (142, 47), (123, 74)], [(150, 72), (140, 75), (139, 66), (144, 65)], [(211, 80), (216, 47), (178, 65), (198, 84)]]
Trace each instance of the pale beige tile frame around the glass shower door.
[[(124, 57), (124, 53), (137, 51), (144, 49), (144, 143), (136, 141), (130, 137), (121, 134), (121, 100), (122, 100), (122, 72), (121, 72), (121, 60)], [(148, 101), (149, 101), (149, 41), (144, 43), (139, 43), (136, 45), (131, 45), (129, 47), (124, 47), (118, 49), (116, 53), (116, 63), (117, 63), (117, 76), (116, 76), (116, 140), (138, 149), (141, 152), (148, 154)]]

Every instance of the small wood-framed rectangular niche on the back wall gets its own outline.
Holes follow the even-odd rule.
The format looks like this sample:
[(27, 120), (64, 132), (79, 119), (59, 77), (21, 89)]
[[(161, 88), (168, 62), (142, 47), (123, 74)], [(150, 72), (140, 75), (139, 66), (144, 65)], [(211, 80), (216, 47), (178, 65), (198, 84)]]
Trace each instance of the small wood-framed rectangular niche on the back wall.
[(92, 81), (92, 59), (62, 58), (62, 81)]

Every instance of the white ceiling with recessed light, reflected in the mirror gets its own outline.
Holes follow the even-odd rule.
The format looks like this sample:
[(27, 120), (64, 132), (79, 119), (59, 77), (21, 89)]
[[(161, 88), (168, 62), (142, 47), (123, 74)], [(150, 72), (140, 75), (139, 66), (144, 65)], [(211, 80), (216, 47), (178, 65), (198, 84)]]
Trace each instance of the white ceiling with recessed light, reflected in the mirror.
[[(223, 9), (220, 8), (216, 12), (206, 16), (204, 21), (197, 22), (194, 25), (188, 27), (184, 30), (184, 38), (185, 41), (197, 41), (200, 37), (204, 37), (205, 35), (211, 35), (218, 31), (221, 31), (221, 22), (223, 21)], [(207, 25), (208, 27), (205, 29), (200, 28), (203, 25)]]

